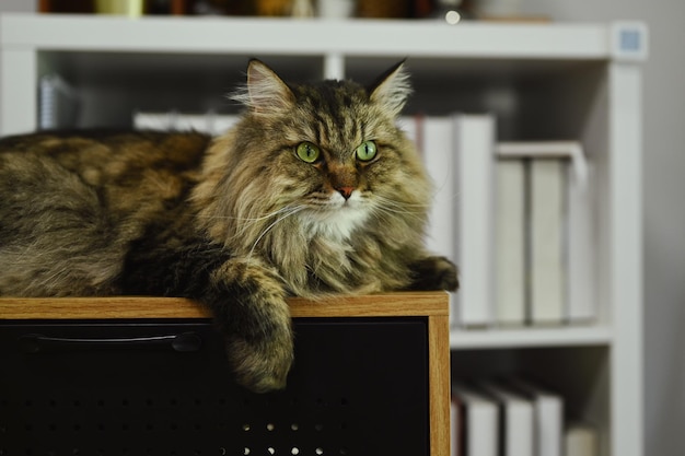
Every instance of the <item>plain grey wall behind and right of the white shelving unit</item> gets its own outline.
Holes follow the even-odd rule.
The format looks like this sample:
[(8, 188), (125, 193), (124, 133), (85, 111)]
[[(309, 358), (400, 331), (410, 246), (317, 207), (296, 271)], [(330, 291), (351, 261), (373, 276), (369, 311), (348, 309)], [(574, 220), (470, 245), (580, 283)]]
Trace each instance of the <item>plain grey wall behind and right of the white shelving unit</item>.
[[(645, 435), (647, 456), (683, 454), (685, 432), (685, 1), (520, 0), (559, 21), (639, 19), (645, 65)], [(35, 1), (2, 0), (2, 11)], [(630, 398), (626, 398), (630, 400)]]

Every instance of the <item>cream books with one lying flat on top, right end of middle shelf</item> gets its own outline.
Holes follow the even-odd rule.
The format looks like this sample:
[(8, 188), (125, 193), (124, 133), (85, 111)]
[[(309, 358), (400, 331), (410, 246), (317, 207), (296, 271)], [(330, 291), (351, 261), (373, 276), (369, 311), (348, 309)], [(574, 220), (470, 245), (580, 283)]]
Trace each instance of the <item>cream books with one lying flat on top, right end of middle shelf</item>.
[(499, 143), (496, 152), (497, 323), (591, 320), (592, 201), (580, 144)]

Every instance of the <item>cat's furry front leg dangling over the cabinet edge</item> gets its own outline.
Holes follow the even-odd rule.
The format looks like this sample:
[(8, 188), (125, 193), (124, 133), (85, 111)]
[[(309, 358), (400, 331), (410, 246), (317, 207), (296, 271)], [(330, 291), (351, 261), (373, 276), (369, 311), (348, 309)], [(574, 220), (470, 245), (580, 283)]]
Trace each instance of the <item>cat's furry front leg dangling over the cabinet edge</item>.
[(225, 334), (236, 381), (257, 393), (283, 388), (293, 336), (276, 270), (202, 241), (177, 241), (158, 235), (152, 243), (136, 243), (125, 264), (123, 291), (185, 296), (206, 305)]

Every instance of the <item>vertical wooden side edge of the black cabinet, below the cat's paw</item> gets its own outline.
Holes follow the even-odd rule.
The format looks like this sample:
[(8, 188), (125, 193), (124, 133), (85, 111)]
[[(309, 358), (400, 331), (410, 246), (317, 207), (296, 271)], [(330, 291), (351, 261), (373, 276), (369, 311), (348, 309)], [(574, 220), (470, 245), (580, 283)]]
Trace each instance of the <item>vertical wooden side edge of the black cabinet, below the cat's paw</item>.
[(450, 318), (428, 317), (430, 455), (450, 456)]

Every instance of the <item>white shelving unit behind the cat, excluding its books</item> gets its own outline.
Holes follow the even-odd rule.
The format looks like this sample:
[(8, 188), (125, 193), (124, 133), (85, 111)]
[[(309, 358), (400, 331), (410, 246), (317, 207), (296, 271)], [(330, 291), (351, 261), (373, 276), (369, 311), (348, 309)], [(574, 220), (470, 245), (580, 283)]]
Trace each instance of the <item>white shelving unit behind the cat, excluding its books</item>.
[(78, 126), (124, 126), (136, 109), (234, 112), (223, 94), (249, 57), (286, 79), (360, 82), (408, 57), (409, 113), (490, 110), (502, 140), (581, 141), (596, 180), (596, 321), (453, 329), (453, 375), (532, 371), (600, 428), (603, 456), (642, 455), (643, 24), (5, 14), (0, 45), (2, 135), (36, 128), (48, 73), (79, 91)]

